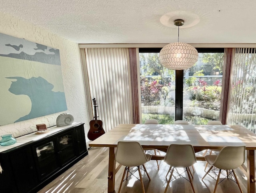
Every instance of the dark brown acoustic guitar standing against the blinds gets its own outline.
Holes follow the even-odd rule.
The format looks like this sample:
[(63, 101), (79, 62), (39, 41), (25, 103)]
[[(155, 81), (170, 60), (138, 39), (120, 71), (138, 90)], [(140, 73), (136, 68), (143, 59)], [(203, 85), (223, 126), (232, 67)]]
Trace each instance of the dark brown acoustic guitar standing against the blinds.
[(94, 105), (94, 119), (90, 121), (90, 130), (87, 134), (89, 140), (95, 140), (98, 137), (102, 136), (105, 131), (102, 128), (102, 121), (97, 119), (97, 100), (92, 99)]

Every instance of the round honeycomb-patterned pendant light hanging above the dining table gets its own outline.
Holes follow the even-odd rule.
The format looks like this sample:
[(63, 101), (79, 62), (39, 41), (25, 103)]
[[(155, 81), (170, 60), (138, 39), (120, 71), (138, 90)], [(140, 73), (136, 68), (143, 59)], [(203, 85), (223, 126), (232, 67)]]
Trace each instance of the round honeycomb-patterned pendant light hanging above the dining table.
[(169, 43), (159, 53), (159, 60), (162, 65), (172, 70), (185, 70), (192, 67), (198, 60), (198, 51), (188, 43), (179, 42), (179, 26), (184, 25), (184, 20), (175, 20), (174, 25), (178, 26), (178, 42)]

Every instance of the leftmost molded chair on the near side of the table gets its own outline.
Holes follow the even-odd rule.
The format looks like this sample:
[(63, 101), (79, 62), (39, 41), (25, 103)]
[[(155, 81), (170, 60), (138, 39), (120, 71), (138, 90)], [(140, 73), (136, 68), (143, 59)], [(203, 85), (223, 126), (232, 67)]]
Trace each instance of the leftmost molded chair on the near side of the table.
[(125, 166), (118, 193), (120, 193), (125, 174), (126, 174), (126, 180), (127, 180), (127, 178), (129, 177), (128, 173), (130, 173), (130, 175), (133, 175), (133, 173), (134, 173), (134, 172), (130, 171), (130, 167), (138, 167), (137, 170), (140, 175), (140, 183), (142, 186), (142, 191), (143, 191), (143, 193), (145, 193), (144, 184), (143, 184), (142, 175), (141, 175), (140, 170), (141, 170), (141, 165), (142, 165), (144, 168), (144, 171), (146, 172), (146, 174), (148, 176), (148, 179), (150, 180), (148, 171), (146, 170), (146, 167), (144, 165), (144, 163), (148, 162), (150, 159), (151, 159), (151, 155), (144, 153), (144, 150), (139, 142), (133, 142), (133, 141), (118, 142), (117, 148), (116, 148), (116, 162)]

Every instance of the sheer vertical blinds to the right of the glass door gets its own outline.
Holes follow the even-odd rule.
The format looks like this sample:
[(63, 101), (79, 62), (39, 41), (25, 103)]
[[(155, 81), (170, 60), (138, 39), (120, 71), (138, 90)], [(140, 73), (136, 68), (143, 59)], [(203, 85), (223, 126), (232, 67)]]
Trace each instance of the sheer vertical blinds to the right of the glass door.
[(256, 53), (255, 48), (236, 48), (230, 83), (228, 124), (242, 125), (255, 133)]

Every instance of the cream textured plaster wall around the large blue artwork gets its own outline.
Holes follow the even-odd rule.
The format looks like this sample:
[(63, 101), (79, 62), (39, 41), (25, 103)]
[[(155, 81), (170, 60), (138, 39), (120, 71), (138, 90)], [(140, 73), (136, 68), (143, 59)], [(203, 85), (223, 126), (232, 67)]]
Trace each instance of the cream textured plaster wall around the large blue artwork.
[[(3, 12), (0, 12), (0, 21), (0, 33), (24, 38), (60, 50), (62, 78), (68, 107), (65, 112), (74, 116), (74, 122), (84, 122), (87, 134), (89, 115), (78, 44)], [(0, 100), (4, 99), (0, 98)], [(46, 124), (47, 127), (54, 126), (57, 116), (61, 113), (0, 126), (0, 135), (11, 133), (14, 137), (18, 137), (36, 131), (36, 124), (42, 123)], [(0, 116), (1, 114), (4, 112), (0, 109)]]

